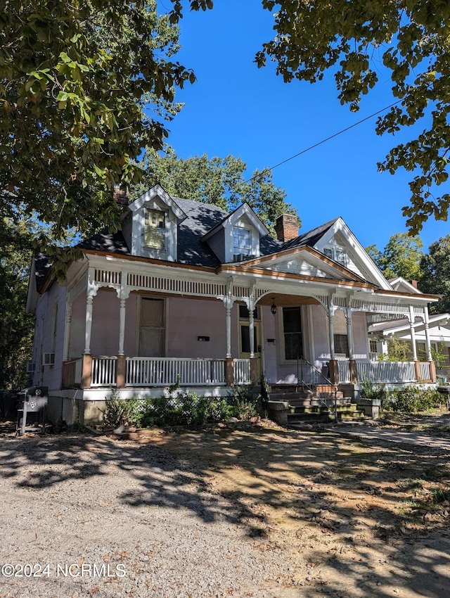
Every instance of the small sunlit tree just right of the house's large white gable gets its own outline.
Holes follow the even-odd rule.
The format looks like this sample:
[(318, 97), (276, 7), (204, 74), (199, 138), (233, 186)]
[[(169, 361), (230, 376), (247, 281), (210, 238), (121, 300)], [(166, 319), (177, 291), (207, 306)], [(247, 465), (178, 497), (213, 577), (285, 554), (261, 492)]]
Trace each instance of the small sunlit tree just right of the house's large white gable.
[(366, 248), (385, 278), (402, 276), (406, 280), (420, 278), (420, 260), (423, 257), (422, 241), (418, 236), (396, 233), (391, 236), (383, 251), (375, 245)]

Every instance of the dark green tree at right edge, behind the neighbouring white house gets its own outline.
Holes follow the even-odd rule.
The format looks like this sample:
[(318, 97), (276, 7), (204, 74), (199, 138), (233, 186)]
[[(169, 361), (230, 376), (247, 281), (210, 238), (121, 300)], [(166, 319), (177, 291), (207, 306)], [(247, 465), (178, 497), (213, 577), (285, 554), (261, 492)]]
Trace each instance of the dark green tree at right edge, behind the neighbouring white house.
[(450, 235), (431, 243), (428, 253), (420, 261), (420, 269), (420, 291), (442, 295), (437, 303), (430, 305), (430, 312), (450, 313)]

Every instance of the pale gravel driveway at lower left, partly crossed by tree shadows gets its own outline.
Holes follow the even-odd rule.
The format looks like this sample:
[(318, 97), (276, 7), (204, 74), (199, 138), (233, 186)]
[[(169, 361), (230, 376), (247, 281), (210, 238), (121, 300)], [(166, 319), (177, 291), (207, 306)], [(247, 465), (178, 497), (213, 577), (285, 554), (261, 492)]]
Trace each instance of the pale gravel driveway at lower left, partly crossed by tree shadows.
[(158, 446), (8, 435), (0, 478), (2, 597), (300, 595), (233, 502)]

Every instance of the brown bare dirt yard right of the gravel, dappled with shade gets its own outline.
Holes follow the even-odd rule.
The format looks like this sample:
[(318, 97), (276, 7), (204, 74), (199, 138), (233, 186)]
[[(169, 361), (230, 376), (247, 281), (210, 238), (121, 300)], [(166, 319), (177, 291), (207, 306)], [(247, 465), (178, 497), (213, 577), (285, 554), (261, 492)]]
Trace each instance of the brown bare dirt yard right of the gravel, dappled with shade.
[[(378, 425), (448, 437), (450, 414)], [(153, 445), (191, 468), (189, 488), (174, 491), (216, 495), (255, 553), (281, 556), (280, 597), (450, 595), (449, 452), (270, 421), (109, 441), (136, 455)], [(201, 508), (205, 520), (207, 500)]]

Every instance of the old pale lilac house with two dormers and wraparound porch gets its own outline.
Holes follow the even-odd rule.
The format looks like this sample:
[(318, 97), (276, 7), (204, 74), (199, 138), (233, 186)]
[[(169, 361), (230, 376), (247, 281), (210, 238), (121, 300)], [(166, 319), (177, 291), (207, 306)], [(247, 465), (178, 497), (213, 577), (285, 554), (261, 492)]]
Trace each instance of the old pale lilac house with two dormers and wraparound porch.
[[(94, 421), (112, 388), (160, 396), (176, 381), (211, 396), (261, 374), (271, 385), (435, 381), (437, 298), (394, 288), (341, 217), (299, 236), (284, 214), (273, 238), (245, 203), (227, 213), (155, 186), (124, 207), (121, 231), (79, 247), (64, 284), (45, 257), (32, 264), (29, 371), (49, 387), (51, 419)], [(423, 321), (425, 360), (371, 360), (368, 325), (399, 318)]]

